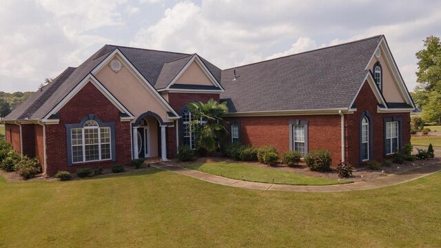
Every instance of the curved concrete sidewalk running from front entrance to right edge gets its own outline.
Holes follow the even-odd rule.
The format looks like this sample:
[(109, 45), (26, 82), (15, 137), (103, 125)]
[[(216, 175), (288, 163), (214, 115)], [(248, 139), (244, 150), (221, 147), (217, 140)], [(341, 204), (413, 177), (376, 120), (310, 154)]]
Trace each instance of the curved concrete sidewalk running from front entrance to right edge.
[(290, 192), (348, 192), (353, 190), (365, 190), (376, 189), (380, 187), (387, 187), (391, 185), (397, 185), (399, 183), (405, 183), (409, 180), (415, 180), (423, 176), (428, 176), (436, 172), (441, 171), (441, 164), (426, 165), (424, 167), (418, 167), (411, 169), (407, 172), (401, 172), (400, 174), (389, 174), (366, 182), (348, 183), (342, 185), (323, 185), (323, 186), (302, 186), (302, 185), (278, 185), (271, 183), (254, 183), (243, 180), (236, 180), (231, 178), (225, 178), (223, 176), (215, 176), (204, 172), (198, 172), (192, 169), (185, 169), (176, 165), (170, 165), (167, 163), (152, 164), (152, 167), (157, 169), (164, 169), (177, 174), (191, 176), (200, 180), (205, 180), (210, 183), (216, 183), (219, 185), (227, 185), (232, 187), (242, 187), (247, 189), (260, 189), (260, 190), (280, 190)]

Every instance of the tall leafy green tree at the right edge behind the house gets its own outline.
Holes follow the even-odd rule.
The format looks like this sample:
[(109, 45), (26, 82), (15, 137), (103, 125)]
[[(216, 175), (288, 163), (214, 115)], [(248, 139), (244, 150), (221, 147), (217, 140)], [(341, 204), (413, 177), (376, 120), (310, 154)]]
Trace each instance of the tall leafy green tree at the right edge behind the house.
[(418, 59), (417, 83), (413, 100), (423, 110), (426, 122), (440, 122), (441, 108), (441, 41), (430, 36), (424, 40), (424, 49), (416, 53)]

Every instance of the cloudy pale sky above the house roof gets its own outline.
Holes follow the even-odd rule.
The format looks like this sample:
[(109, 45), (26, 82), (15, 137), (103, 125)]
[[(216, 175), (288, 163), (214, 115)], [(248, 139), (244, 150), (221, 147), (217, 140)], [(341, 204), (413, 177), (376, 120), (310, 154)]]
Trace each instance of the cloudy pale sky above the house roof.
[(0, 91), (35, 91), (105, 44), (232, 68), (384, 34), (409, 90), (441, 1), (1, 0)]

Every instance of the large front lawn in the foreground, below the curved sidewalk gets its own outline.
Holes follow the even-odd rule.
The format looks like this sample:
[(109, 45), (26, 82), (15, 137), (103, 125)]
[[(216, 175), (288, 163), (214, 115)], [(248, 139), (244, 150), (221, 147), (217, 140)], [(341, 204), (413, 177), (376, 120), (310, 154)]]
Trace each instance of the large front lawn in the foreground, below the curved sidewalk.
[(161, 170), (0, 179), (0, 213), (1, 247), (440, 247), (441, 173), (339, 193), (242, 189)]

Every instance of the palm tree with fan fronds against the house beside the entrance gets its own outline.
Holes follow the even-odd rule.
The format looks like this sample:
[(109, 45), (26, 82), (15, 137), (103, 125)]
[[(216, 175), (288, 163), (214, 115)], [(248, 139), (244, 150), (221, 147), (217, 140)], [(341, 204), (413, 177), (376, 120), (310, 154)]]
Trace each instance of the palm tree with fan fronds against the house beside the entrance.
[(227, 103), (218, 103), (209, 99), (207, 103), (188, 103), (187, 108), (194, 116), (190, 125), (196, 132), (196, 146), (207, 152), (216, 152), (218, 143), (227, 133), (223, 116), (228, 112)]

